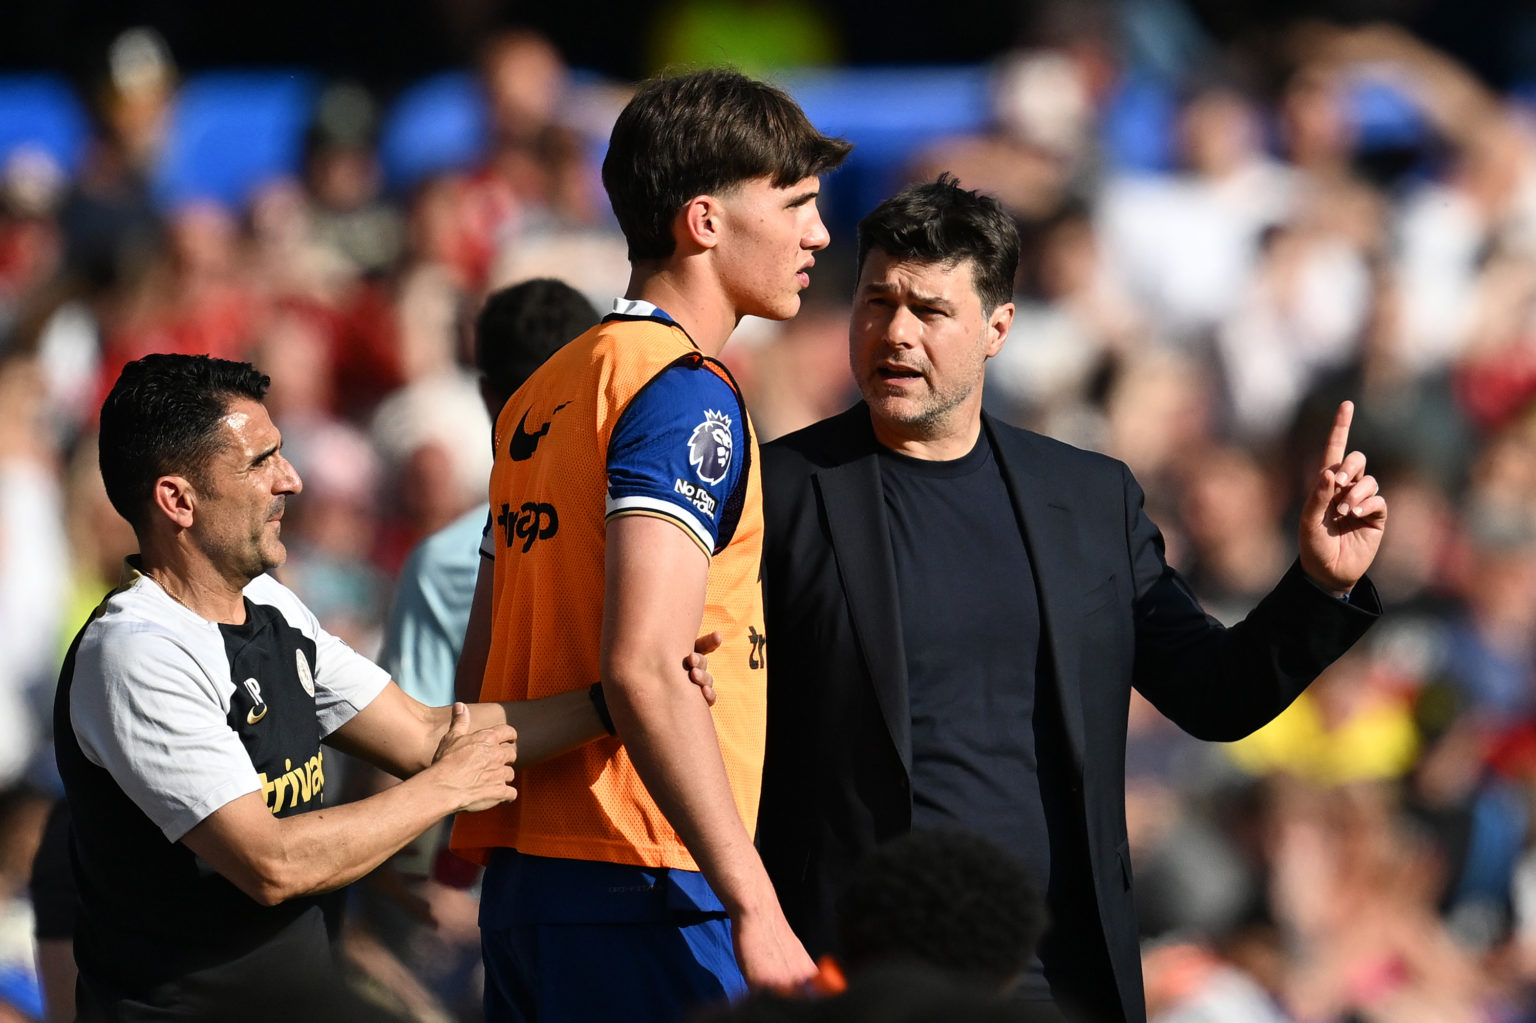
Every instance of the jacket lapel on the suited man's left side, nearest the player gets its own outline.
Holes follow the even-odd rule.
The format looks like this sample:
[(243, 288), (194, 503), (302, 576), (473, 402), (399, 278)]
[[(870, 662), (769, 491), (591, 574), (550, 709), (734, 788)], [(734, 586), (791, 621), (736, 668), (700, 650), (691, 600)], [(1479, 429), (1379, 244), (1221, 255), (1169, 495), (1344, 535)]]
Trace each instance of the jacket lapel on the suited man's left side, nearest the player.
[(885, 521), (879, 459), (874, 435), (868, 427), (868, 412), (860, 404), (851, 415), (863, 419), (866, 442), (859, 442), (848, 459), (817, 470), (816, 488), (826, 513), (848, 614), (874, 684), (880, 714), (902, 756), (902, 765), (911, 773), (912, 719), (906, 694), (906, 656), (902, 651), (895, 562)]

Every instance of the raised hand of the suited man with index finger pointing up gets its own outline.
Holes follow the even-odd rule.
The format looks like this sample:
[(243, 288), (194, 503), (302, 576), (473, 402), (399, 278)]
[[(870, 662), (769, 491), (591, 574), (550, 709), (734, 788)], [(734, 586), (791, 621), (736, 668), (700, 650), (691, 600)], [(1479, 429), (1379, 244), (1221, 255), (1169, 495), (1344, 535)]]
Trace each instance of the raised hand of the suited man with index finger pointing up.
[[(1329, 432), (1322, 467), (1301, 508), (1301, 570), (1330, 593), (1355, 588), (1370, 568), (1387, 525), (1387, 499), (1366, 475), (1366, 456), (1349, 452), (1353, 402), (1339, 404)], [(1349, 453), (1346, 453), (1349, 452)]]

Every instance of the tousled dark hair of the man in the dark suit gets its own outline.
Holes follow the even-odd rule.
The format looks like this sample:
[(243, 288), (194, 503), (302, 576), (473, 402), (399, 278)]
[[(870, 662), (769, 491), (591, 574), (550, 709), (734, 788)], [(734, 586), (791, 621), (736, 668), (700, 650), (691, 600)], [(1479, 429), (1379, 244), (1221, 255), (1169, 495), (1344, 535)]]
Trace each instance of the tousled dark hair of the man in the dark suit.
[(911, 184), (859, 221), (859, 272), (879, 249), (892, 260), (958, 266), (971, 260), (975, 293), (986, 312), (1014, 298), (1018, 226), (991, 195), (960, 187), (952, 174)]

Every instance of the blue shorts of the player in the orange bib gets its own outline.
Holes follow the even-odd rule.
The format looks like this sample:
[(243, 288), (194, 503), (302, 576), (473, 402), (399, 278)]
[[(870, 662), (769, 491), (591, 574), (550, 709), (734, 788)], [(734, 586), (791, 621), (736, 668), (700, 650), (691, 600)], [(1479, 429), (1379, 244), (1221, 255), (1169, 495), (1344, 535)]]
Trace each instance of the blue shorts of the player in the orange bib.
[(677, 1023), (746, 992), (730, 917), (694, 871), (498, 849), (479, 922), (487, 1023)]

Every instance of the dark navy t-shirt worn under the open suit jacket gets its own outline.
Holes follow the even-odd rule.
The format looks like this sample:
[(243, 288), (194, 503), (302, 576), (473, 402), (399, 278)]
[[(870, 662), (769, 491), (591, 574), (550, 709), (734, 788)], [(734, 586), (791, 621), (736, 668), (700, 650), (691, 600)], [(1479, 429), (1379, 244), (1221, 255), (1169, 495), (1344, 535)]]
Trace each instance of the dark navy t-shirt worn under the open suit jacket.
[[(1035, 757), (1040, 604), (983, 432), (969, 455), (882, 450), (912, 714), (912, 828), (963, 828), (1012, 851), (1041, 892), (1051, 856)], [(1044, 995), (1038, 962), (1026, 992)]]

